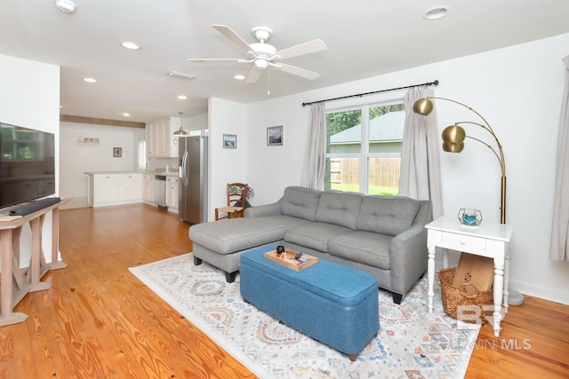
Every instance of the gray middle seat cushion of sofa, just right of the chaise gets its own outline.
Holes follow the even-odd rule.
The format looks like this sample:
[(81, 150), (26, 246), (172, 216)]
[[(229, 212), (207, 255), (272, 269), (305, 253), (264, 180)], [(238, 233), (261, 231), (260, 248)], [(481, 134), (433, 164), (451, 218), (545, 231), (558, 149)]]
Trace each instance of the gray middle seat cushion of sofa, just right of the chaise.
[(328, 241), (334, 235), (352, 233), (353, 230), (327, 223), (307, 223), (293, 226), (284, 232), (284, 241), (322, 252), (328, 251)]

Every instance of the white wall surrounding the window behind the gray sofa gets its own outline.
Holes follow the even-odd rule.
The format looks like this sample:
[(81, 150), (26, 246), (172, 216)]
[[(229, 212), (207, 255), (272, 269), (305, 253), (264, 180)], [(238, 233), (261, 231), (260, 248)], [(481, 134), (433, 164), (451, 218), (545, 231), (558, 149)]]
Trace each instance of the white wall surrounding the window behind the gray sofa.
[[(247, 106), (246, 181), (255, 189), (253, 203), (276, 201), (285, 186), (301, 183), (309, 122), (302, 102), (396, 88), (438, 79), (436, 95), (456, 99), (482, 114), (501, 139), (508, 175), (508, 223), (511, 284), (517, 290), (569, 304), (569, 264), (549, 261), (557, 130), (564, 89), (563, 57), (569, 34), (487, 51), (460, 59), (345, 83)], [(401, 98), (403, 92), (377, 95)], [(372, 101), (373, 98), (363, 98)], [(354, 101), (354, 100), (351, 100)], [(339, 102), (326, 103), (327, 108)], [(477, 115), (455, 104), (436, 102), (438, 129)], [(217, 112), (217, 110), (216, 110)], [(235, 120), (240, 114), (231, 117)], [(266, 146), (266, 128), (284, 125), (284, 146)], [(467, 133), (484, 138), (470, 128)], [(441, 153), (445, 214), (463, 207), (482, 211), (483, 222), (500, 222), (500, 166), (482, 144), (467, 140), (462, 154)], [(226, 170), (230, 172), (230, 170)], [(219, 183), (225, 182), (218, 173)]]

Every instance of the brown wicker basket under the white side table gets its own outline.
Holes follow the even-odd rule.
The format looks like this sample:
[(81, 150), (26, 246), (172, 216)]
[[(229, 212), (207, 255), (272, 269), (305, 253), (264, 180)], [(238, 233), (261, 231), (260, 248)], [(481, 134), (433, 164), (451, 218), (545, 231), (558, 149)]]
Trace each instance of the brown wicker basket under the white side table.
[[(441, 294), (443, 296), (443, 308), (445, 313), (453, 319), (456, 319), (458, 305), (478, 305), (480, 306), (480, 320), (483, 324), (487, 323), (488, 321), (485, 316), (492, 316), (493, 311), (485, 311), (482, 305), (494, 304), (493, 290), (479, 291), (474, 286), (469, 286), (469, 290), (465, 291), (466, 287), (464, 286), (453, 286), (455, 271), (455, 268), (449, 268), (438, 272), (438, 279), (441, 280)], [(466, 314), (468, 314), (468, 312)]]

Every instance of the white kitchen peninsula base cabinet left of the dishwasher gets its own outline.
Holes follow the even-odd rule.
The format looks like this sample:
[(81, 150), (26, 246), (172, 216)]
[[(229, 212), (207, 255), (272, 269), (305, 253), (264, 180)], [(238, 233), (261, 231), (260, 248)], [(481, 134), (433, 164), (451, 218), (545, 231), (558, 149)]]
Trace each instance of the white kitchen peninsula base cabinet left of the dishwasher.
[(92, 206), (129, 204), (142, 201), (142, 174), (100, 173), (92, 175)]

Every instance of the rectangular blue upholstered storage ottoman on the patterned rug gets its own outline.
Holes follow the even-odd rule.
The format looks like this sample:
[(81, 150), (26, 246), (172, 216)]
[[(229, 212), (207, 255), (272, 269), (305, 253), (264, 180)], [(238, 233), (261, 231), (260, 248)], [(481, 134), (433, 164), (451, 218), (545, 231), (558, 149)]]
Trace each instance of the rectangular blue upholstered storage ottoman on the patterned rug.
[(241, 296), (355, 360), (380, 328), (377, 280), (324, 259), (296, 272), (264, 257), (274, 249), (263, 246), (241, 256)]

